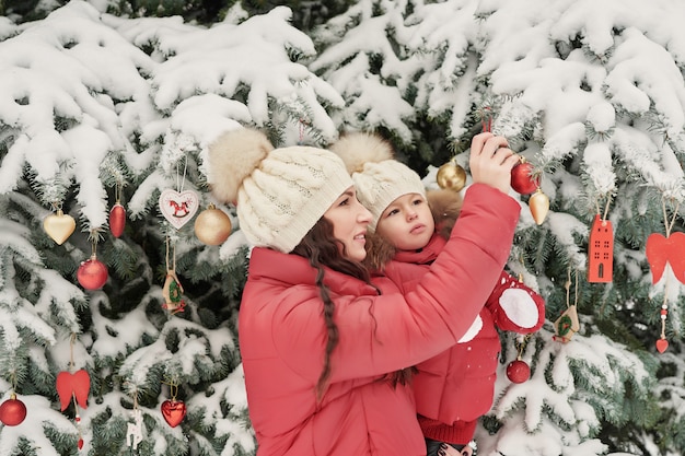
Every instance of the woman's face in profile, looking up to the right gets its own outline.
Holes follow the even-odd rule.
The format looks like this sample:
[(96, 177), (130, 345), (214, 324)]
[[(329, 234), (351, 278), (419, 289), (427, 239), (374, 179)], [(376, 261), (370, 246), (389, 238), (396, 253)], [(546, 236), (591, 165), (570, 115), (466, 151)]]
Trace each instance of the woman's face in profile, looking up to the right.
[(371, 212), (357, 199), (355, 187), (350, 187), (324, 213), (333, 224), (333, 235), (345, 245), (345, 257), (361, 261), (367, 257), (367, 227)]

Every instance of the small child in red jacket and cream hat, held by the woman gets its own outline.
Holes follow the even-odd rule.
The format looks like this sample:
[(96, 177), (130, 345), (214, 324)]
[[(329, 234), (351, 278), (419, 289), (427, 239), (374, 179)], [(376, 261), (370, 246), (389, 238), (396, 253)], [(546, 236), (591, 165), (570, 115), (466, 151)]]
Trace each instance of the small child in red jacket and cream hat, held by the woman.
[[(445, 244), (461, 209), (452, 190), (426, 194), (418, 174), (392, 160), (383, 139), (363, 133), (332, 147), (346, 162), (357, 196), (372, 213), (367, 261), (403, 292), (414, 290)], [(414, 391), (428, 456), (472, 455), (477, 419), (492, 406), (499, 330), (533, 332), (544, 323), (544, 300), (507, 272), (483, 311), (452, 349), (418, 364)]]

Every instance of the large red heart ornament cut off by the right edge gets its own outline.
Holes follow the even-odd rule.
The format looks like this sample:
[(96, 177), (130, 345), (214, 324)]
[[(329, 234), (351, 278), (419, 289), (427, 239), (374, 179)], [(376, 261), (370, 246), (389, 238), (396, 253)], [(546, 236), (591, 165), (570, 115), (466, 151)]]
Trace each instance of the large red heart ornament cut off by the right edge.
[(671, 265), (675, 278), (685, 283), (684, 233), (673, 233), (669, 237), (659, 233), (650, 234), (647, 237), (645, 254), (652, 271), (652, 284), (661, 280), (666, 262)]

